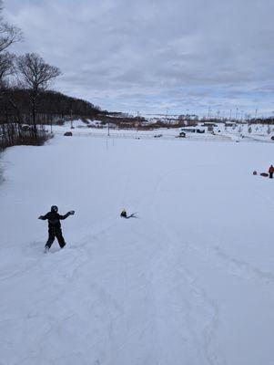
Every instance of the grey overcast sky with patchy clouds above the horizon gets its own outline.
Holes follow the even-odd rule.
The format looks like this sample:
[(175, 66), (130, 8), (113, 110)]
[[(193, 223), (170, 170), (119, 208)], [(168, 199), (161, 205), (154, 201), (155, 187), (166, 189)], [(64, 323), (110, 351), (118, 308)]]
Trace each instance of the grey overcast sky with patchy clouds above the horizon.
[(61, 69), (55, 89), (103, 109), (274, 111), (273, 0), (5, 0), (5, 17)]

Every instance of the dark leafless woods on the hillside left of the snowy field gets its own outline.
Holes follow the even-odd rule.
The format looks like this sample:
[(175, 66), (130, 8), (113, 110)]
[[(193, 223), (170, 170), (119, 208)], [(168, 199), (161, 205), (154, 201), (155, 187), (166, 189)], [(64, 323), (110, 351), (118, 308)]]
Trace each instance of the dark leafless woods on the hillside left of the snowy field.
[(0, 95), (0, 151), (15, 145), (42, 145), (50, 134), (45, 125), (83, 118), (104, 120), (107, 111), (60, 92), (41, 90), (36, 98), (34, 120), (29, 90), (3, 88)]

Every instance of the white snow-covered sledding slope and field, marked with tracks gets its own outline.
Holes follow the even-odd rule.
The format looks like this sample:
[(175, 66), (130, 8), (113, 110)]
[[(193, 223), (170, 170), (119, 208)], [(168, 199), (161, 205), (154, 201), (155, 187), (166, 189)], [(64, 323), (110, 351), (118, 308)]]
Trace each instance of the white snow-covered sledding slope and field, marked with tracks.
[[(0, 364), (272, 365), (274, 182), (252, 175), (272, 155), (88, 134), (5, 151)], [(76, 214), (45, 255), (52, 204)]]

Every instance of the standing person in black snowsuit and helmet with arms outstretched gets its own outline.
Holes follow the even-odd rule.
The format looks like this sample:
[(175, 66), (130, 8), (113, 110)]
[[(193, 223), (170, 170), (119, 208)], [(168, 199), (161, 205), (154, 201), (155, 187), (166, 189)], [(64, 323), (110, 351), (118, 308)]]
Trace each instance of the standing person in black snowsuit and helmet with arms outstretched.
[(45, 245), (45, 250), (49, 250), (51, 245), (54, 243), (55, 238), (58, 240), (58, 244), (61, 248), (65, 247), (66, 242), (62, 235), (60, 220), (66, 219), (69, 215), (75, 214), (75, 211), (67, 212), (65, 215), (58, 214), (58, 207), (53, 205), (50, 212), (46, 215), (40, 215), (38, 219), (48, 221), (48, 239)]

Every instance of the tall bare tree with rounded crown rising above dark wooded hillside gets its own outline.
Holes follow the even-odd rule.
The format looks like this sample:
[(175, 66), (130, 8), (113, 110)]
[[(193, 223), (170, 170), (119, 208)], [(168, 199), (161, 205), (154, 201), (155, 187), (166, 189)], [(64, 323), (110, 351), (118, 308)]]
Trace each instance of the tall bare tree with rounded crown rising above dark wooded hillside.
[(54, 78), (61, 74), (59, 68), (48, 65), (36, 53), (26, 53), (17, 58), (17, 70), (22, 86), (29, 91), (32, 104), (33, 123), (36, 126), (36, 99), (40, 91), (45, 91)]

